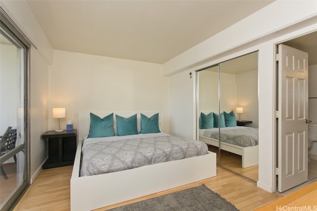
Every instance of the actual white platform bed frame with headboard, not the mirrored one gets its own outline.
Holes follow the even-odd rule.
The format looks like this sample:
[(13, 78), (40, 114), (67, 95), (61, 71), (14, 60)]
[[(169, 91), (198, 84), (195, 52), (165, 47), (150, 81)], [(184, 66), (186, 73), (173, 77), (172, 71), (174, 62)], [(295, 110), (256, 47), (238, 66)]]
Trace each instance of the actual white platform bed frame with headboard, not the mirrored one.
[[(112, 112), (92, 112), (101, 118)], [(140, 112), (115, 113), (123, 117)], [(141, 112), (150, 117), (158, 112)], [(114, 118), (115, 119), (115, 118)], [(70, 210), (89, 211), (163, 190), (189, 184), (216, 175), (216, 154), (187, 158), (178, 161), (144, 166), (136, 169), (94, 175), (79, 176), (81, 147), (89, 131), (90, 114), (78, 115), (78, 145), (70, 179)], [(114, 122), (115, 127), (115, 122)], [(115, 127), (116, 130), (116, 127)]]

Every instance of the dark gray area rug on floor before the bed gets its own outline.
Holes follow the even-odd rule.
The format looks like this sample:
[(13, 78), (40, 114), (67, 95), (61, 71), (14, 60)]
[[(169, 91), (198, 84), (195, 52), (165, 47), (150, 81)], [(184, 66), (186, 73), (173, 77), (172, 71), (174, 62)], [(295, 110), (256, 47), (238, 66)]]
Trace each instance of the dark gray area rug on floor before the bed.
[(204, 184), (110, 211), (239, 211)]

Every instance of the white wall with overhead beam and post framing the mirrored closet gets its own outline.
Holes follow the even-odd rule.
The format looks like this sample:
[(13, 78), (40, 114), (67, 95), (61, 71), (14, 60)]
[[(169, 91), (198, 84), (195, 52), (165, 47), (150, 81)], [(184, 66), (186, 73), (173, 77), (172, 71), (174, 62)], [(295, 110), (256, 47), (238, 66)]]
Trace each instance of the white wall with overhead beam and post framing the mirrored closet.
[[(259, 50), (259, 181), (258, 186), (274, 192), (275, 184), (275, 44), (317, 30), (317, 1), (277, 0), (260, 11), (241, 20), (210, 39), (202, 42), (163, 65), (164, 74), (170, 76), (170, 101), (172, 120), (192, 114), (194, 88), (185, 80), (176, 79), (189, 71), (195, 71), (230, 58)], [(305, 11), (305, 12), (298, 12)], [(281, 16), (280, 14), (283, 13)], [(234, 36), (233, 36), (234, 35)], [(190, 89), (192, 87), (192, 89)], [(195, 87), (195, 86), (194, 86)], [(179, 97), (180, 90), (183, 94)], [(176, 103), (176, 104), (174, 104)], [(181, 105), (185, 104), (185, 107)], [(191, 104), (191, 105), (190, 105)], [(179, 107), (177, 110), (176, 106)], [(193, 114), (194, 117), (194, 114)], [(193, 119), (194, 123), (189, 123)], [(188, 125), (195, 118), (170, 127), (170, 133), (190, 134)], [(195, 131), (193, 131), (195, 133)]]

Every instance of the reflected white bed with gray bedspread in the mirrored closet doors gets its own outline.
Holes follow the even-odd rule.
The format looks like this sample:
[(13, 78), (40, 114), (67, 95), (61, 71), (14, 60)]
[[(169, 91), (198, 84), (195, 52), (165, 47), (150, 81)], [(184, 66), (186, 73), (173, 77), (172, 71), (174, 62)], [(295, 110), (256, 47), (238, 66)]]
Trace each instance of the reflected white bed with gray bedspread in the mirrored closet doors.
[[(204, 114), (210, 111), (202, 111)], [(201, 125), (201, 120), (200, 120)], [(220, 127), (220, 149), (242, 157), (242, 168), (259, 164), (258, 128), (253, 127)], [(199, 140), (219, 147), (219, 128), (199, 129)], [(225, 140), (227, 139), (227, 140)], [(241, 142), (244, 139), (245, 142)]]

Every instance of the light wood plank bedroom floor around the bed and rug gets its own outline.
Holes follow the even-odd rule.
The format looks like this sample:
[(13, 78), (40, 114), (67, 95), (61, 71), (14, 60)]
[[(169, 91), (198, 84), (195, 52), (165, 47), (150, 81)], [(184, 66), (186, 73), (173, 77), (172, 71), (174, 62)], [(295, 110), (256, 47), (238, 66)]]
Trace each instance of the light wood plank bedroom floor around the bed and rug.
[[(72, 166), (43, 169), (18, 202), (14, 211), (69, 211), (71, 171)], [(217, 167), (217, 176), (215, 177), (108, 206), (97, 211), (108, 210), (201, 184), (205, 184), (211, 190), (220, 194), (241, 211), (254, 211), (282, 197), (277, 193), (268, 193), (258, 188), (254, 182)]]

